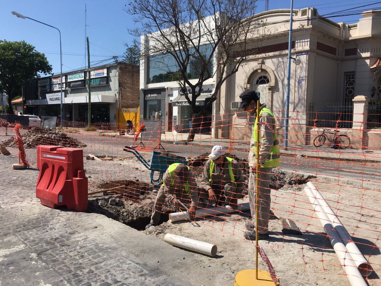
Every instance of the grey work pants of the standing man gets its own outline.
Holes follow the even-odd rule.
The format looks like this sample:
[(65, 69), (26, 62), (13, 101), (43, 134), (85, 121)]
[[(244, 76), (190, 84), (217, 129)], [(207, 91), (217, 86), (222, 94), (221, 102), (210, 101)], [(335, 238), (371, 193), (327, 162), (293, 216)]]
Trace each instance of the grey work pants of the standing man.
[[(258, 231), (259, 233), (268, 233), (268, 224), (270, 217), (270, 173), (272, 168), (261, 168), (259, 173), (259, 191), (258, 191)], [(256, 175), (251, 172), (249, 175), (249, 202), (252, 223), (255, 225), (255, 191), (256, 191)]]

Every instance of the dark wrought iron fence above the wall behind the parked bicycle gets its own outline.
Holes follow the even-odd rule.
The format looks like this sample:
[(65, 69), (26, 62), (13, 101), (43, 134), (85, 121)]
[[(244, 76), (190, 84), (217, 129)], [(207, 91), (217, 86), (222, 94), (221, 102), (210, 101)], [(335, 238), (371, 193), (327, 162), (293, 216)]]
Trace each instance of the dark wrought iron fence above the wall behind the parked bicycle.
[(309, 126), (352, 128), (353, 103), (310, 103)]

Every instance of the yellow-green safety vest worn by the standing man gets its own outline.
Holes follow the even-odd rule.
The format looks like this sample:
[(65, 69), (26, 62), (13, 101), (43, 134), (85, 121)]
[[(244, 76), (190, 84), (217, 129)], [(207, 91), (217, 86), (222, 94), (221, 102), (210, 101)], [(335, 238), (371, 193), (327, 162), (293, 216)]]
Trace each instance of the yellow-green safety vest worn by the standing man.
[[(272, 114), (271, 110), (267, 107), (262, 108), (259, 111), (259, 117), (262, 116), (262, 113), (268, 113), (272, 118), (274, 118), (275, 125), (274, 125), (274, 143), (270, 149), (270, 154), (266, 158), (266, 162), (261, 165), (261, 168), (275, 168), (278, 167), (280, 164), (280, 155), (279, 155), (279, 141), (278, 141), (278, 134), (277, 134), (277, 125), (276, 120), (274, 117), (274, 114)], [(258, 148), (258, 146), (261, 144), (261, 133), (259, 133), (259, 138), (257, 138), (257, 123), (258, 123), (258, 117), (255, 118), (255, 124), (253, 126), (253, 138), (255, 142), (255, 148)]]

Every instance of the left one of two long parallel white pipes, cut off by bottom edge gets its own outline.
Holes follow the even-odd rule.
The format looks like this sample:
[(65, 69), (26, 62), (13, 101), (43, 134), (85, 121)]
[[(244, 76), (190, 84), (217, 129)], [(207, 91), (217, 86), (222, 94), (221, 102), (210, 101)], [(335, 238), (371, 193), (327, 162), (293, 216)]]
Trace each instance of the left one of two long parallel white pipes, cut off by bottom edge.
[(327, 233), (328, 238), (331, 241), (331, 244), (336, 252), (340, 264), (341, 266), (343, 266), (344, 272), (348, 277), (349, 283), (352, 286), (366, 286), (367, 284), (362, 278), (359, 269), (357, 269), (357, 266), (354, 263), (351, 255), (345, 248), (343, 241), (341, 241), (340, 239), (339, 234), (337, 233), (330, 220), (328, 219), (327, 215), (323, 211), (322, 206), (320, 206), (317, 199), (314, 198), (314, 194), (312, 193), (311, 189), (309, 187), (305, 187), (304, 191), (306, 192), (307, 197), (311, 202), (312, 206), (314, 207), (314, 211), (320, 220), (320, 223), (322, 224), (325, 232)]

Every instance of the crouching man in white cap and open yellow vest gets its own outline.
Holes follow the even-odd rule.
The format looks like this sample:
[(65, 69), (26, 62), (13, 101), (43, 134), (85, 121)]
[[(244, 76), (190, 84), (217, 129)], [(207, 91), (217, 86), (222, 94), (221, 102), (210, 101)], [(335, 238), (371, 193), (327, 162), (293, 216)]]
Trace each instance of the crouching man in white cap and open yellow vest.
[(237, 199), (245, 196), (245, 178), (237, 161), (226, 157), (225, 153), (223, 146), (213, 146), (202, 172), (202, 188), (207, 190), (209, 201), (216, 206), (229, 205), (237, 209)]

